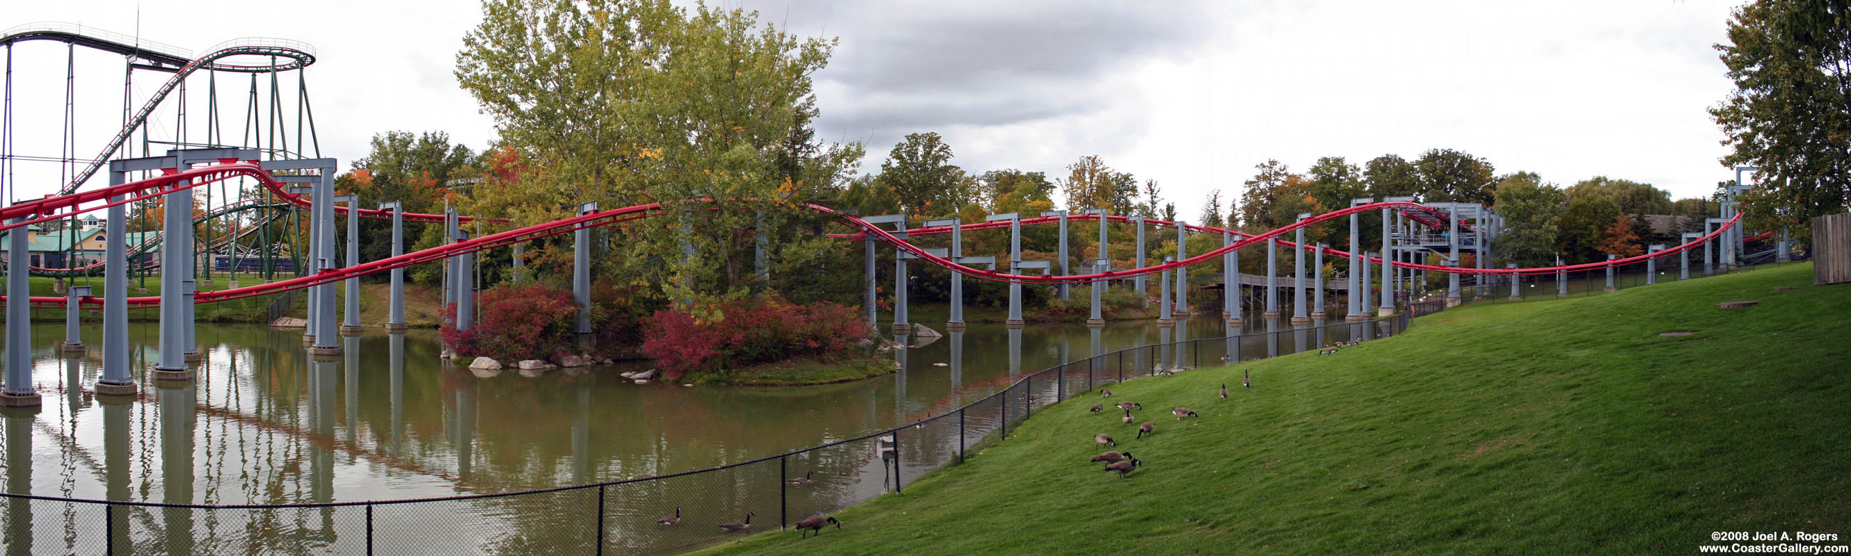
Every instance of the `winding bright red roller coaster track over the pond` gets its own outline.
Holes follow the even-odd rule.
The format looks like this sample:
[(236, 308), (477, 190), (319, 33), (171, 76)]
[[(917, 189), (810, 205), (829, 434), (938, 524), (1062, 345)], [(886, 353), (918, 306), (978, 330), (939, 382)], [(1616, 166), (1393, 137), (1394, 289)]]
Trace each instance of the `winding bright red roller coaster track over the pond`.
[[(122, 203), (130, 203), (130, 201), (137, 201), (137, 199), (155, 198), (155, 196), (163, 196), (163, 194), (176, 192), (176, 190), (189, 190), (193, 187), (200, 187), (200, 185), (215, 183), (215, 181), (222, 181), (222, 179), (231, 179), (231, 177), (241, 177), (241, 175), (257, 179), (259, 183), (263, 183), (270, 190), (278, 192), (280, 196), (283, 196), (283, 199), (287, 199), (291, 203), (300, 203), (300, 205), (307, 203), (300, 196), (289, 194), (280, 181), (276, 181), (274, 177), (270, 177), (270, 174), (265, 172), (263, 168), (259, 168), (255, 163), (224, 161), (220, 164), (211, 164), (211, 166), (202, 166), (202, 168), (193, 168), (193, 170), (180, 170), (180, 172), (167, 172), (165, 175), (157, 175), (157, 177), (150, 177), (150, 179), (143, 179), (143, 181), (133, 181), (133, 183), (124, 183), (124, 185), (117, 185), (117, 187), (107, 187), (107, 188), (100, 188), (100, 190), (76, 192), (76, 194), (67, 194), (67, 196), (46, 196), (43, 199), (33, 199), (33, 201), (26, 201), (26, 203), (4, 207), (4, 209), (0, 209), (0, 222), (9, 222), (13, 218), (26, 218), (26, 220), (0, 225), (0, 231), (13, 229), (13, 227), (22, 227), (22, 225), (35, 224), (35, 222), (67, 218), (67, 216), (76, 214), (76, 212), (89, 212), (89, 211), (104, 209), (104, 207), (109, 207), (109, 205), (122, 205)], [(120, 201), (109, 201), (109, 198), (115, 198), (115, 196), (122, 196), (122, 199)], [(102, 203), (102, 205), (87, 205), (87, 203)], [(1249, 246), (1255, 246), (1255, 244), (1264, 242), (1268, 238), (1279, 238), (1279, 236), (1283, 236), (1286, 233), (1292, 233), (1292, 231), (1296, 231), (1299, 227), (1314, 225), (1314, 224), (1327, 222), (1327, 220), (1333, 220), (1333, 218), (1342, 218), (1342, 216), (1349, 216), (1349, 214), (1360, 214), (1360, 212), (1368, 212), (1368, 211), (1381, 211), (1381, 209), (1414, 209), (1414, 211), (1425, 209), (1423, 205), (1410, 203), (1410, 201), (1381, 201), (1381, 203), (1355, 205), (1355, 207), (1348, 207), (1348, 209), (1338, 209), (1338, 211), (1323, 212), (1323, 214), (1318, 214), (1318, 216), (1312, 216), (1312, 218), (1305, 218), (1305, 220), (1299, 220), (1299, 222), (1296, 222), (1292, 225), (1272, 229), (1272, 231), (1266, 231), (1266, 233), (1257, 233), (1257, 235), (1235, 233), (1236, 236), (1242, 236), (1242, 238), (1238, 242), (1231, 244), (1231, 246), (1216, 248), (1216, 249), (1211, 249), (1211, 251), (1203, 251), (1203, 253), (1199, 253), (1196, 257), (1188, 257), (1188, 259), (1175, 260), (1175, 262), (1153, 264), (1153, 266), (1131, 268), (1131, 270), (1114, 270), (1114, 272), (1103, 272), (1103, 273), (1018, 275), (1018, 273), (1007, 273), (1007, 272), (996, 272), (996, 270), (970, 268), (970, 266), (963, 266), (963, 264), (951, 262), (950, 259), (931, 255), (924, 248), (913, 246), (911, 242), (898, 238), (890, 231), (885, 231), (885, 229), (881, 229), (881, 227), (877, 227), (874, 224), (868, 224), (868, 222), (864, 222), (861, 218), (839, 212), (839, 211), (829, 209), (829, 207), (820, 207), (820, 205), (801, 205), (801, 207), (807, 209), (807, 211), (816, 211), (816, 212), (822, 212), (822, 214), (829, 214), (835, 220), (842, 222), (844, 225), (857, 227), (859, 233), (855, 233), (851, 236), (866, 238), (868, 235), (872, 235), (876, 240), (879, 240), (883, 244), (894, 246), (896, 249), (907, 251), (907, 253), (911, 253), (911, 255), (914, 255), (914, 257), (918, 257), (922, 260), (927, 260), (931, 264), (948, 268), (951, 272), (957, 272), (957, 273), (963, 273), (963, 275), (970, 275), (970, 277), (988, 279), (988, 281), (1005, 281), (1005, 283), (1012, 281), (1012, 283), (1025, 283), (1025, 284), (1062, 284), (1062, 283), (1064, 284), (1077, 284), (1077, 283), (1092, 283), (1092, 281), (1101, 281), (1101, 279), (1124, 279), (1124, 277), (1149, 275), (1149, 273), (1159, 273), (1159, 272), (1166, 272), (1166, 270), (1174, 270), (1174, 268), (1183, 268), (1183, 266), (1194, 266), (1194, 264), (1211, 262), (1211, 260), (1216, 260), (1218, 257), (1222, 257), (1222, 255), (1225, 255), (1229, 251), (1249, 248)], [(520, 244), (520, 242), (531, 242), (531, 240), (539, 240), (539, 238), (548, 238), (548, 236), (555, 236), (555, 235), (572, 233), (572, 231), (578, 231), (578, 229), (583, 229), (583, 227), (602, 227), (602, 225), (611, 225), (611, 224), (618, 224), (618, 222), (629, 222), (629, 220), (639, 220), (639, 218), (672, 214), (676, 211), (677, 209), (663, 209), (661, 203), (648, 203), (648, 205), (633, 205), (633, 207), (622, 207), (622, 209), (596, 211), (596, 212), (587, 212), (587, 214), (581, 214), (581, 216), (561, 218), (561, 220), (553, 220), (553, 222), (546, 222), (546, 224), (535, 224), (535, 225), (516, 227), (516, 229), (509, 229), (509, 231), (502, 231), (502, 233), (485, 235), (485, 236), (479, 236), (479, 238), (470, 238), (470, 240), (461, 240), (461, 242), (453, 242), (453, 244), (446, 244), (446, 246), (437, 246), (437, 248), (429, 248), (429, 249), (422, 249), (422, 251), (413, 251), (413, 253), (405, 253), (405, 255), (400, 255), (400, 257), (389, 257), (389, 259), (361, 262), (361, 264), (354, 264), (354, 266), (346, 266), (346, 268), (329, 268), (329, 270), (324, 270), (324, 272), (315, 273), (315, 275), (304, 275), (304, 277), (276, 281), (276, 283), (268, 283), (268, 284), (255, 284), (255, 286), (233, 288), (233, 290), (200, 292), (200, 294), (194, 296), (194, 303), (213, 303), (213, 301), (239, 299), (239, 297), (254, 297), (254, 296), (263, 296), (263, 294), (270, 294), (270, 292), (283, 292), (283, 290), (296, 290), (296, 288), (307, 288), (307, 286), (317, 286), (317, 284), (328, 284), (328, 283), (344, 281), (344, 279), (355, 277), (355, 275), (366, 275), (366, 273), (385, 272), (385, 270), (392, 270), (392, 268), (404, 268), (404, 266), (411, 266), (411, 264), (433, 262), (433, 260), (441, 260), (441, 259), (448, 259), (448, 257), (455, 257), (455, 255), (476, 253), (476, 251), (494, 249), (494, 248)], [(366, 211), (366, 209), (361, 209), (359, 214), (365, 216), (365, 218), (391, 218), (389, 211)], [(409, 214), (407, 212), (407, 214), (404, 214), (404, 218), (409, 220), (409, 222), (442, 222), (442, 214)], [(1087, 220), (1094, 220), (1096, 222), (1098, 220), (1098, 216), (1094, 216), (1094, 214), (1070, 216), (1070, 218), (1072, 220), (1081, 220), (1081, 222), (1087, 222)], [(1107, 218), (1111, 222), (1129, 222), (1129, 218), (1125, 218), (1125, 216), (1107, 216)], [(1025, 220), (1022, 220), (1022, 224), (1048, 224), (1048, 222), (1055, 222), (1055, 220), (1057, 220), (1057, 216), (1040, 216), (1040, 218), (1025, 218)], [(1723, 224), (1721, 227), (1718, 227), (1716, 231), (1712, 231), (1712, 233), (1708, 233), (1705, 236), (1699, 236), (1699, 238), (1696, 238), (1692, 242), (1686, 242), (1686, 244), (1679, 244), (1679, 246), (1673, 246), (1673, 248), (1668, 248), (1668, 249), (1662, 249), (1662, 251), (1657, 251), (1657, 253), (1625, 257), (1625, 259), (1616, 259), (1616, 260), (1601, 260), (1601, 262), (1586, 262), (1586, 264), (1564, 264), (1564, 266), (1542, 266), (1542, 268), (1483, 268), (1483, 270), (1481, 268), (1433, 266), (1433, 264), (1407, 264), (1407, 262), (1398, 262), (1398, 264), (1405, 266), (1405, 268), (1418, 268), (1418, 270), (1442, 272), (1442, 273), (1464, 273), (1464, 275), (1538, 275), (1538, 273), (1555, 273), (1555, 272), (1601, 270), (1601, 268), (1612, 268), (1612, 266), (1636, 264), (1636, 262), (1644, 262), (1647, 259), (1670, 257), (1670, 255), (1677, 255), (1677, 253), (1699, 248), (1699, 246), (1703, 246), (1703, 242), (1714, 240), (1720, 235), (1723, 235), (1723, 231), (1729, 229), (1729, 227), (1733, 227), (1738, 220), (1740, 220), (1740, 214), (1736, 218), (1729, 220), (1727, 224)], [(1159, 227), (1175, 227), (1177, 225), (1175, 222), (1164, 222), (1164, 220), (1144, 220), (1144, 222), (1151, 224), (1151, 225), (1159, 225)], [(1003, 227), (1003, 225), (1009, 225), (1009, 222), (966, 224), (966, 225), (961, 225), (961, 229), (992, 229), (992, 227)], [(1190, 231), (1211, 233), (1211, 235), (1229, 233), (1227, 229), (1209, 227), (1209, 225), (1186, 225), (1186, 227)], [(933, 235), (933, 233), (948, 233), (948, 231), (950, 231), (950, 227), (922, 227), (922, 229), (907, 231), (907, 235), (914, 235), (914, 233), (918, 233), (918, 235)], [(1762, 233), (1762, 235), (1751, 236), (1751, 240), (1764, 238), (1768, 235), (1771, 235), (1771, 233)], [(1298, 246), (1294, 242), (1285, 242), (1285, 240), (1281, 240), (1281, 244), (1285, 244), (1286, 248), (1294, 248), (1294, 249), (1312, 249), (1312, 248), (1303, 248), (1303, 246)], [(1335, 255), (1335, 257), (1349, 257), (1348, 251), (1340, 251), (1340, 249), (1333, 249), (1333, 248), (1325, 248), (1323, 251), (1327, 255)], [(1379, 264), (1381, 259), (1379, 257), (1370, 257), (1370, 262)], [(6, 299), (6, 297), (0, 297), (0, 299)], [(78, 303), (80, 305), (102, 305), (102, 297), (81, 297), (81, 299), (78, 299)], [(161, 297), (130, 297), (128, 299), (128, 305), (131, 308), (159, 307), (159, 303), (161, 303)], [(31, 307), (44, 307), (44, 308), (65, 307), (65, 297), (31, 297)]]

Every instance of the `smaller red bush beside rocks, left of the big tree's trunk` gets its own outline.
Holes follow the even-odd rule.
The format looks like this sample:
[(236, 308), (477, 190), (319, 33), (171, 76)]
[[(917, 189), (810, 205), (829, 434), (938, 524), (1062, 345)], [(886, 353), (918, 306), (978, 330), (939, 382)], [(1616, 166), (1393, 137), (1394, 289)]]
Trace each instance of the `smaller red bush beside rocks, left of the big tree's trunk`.
[(574, 349), (572, 325), (578, 303), (572, 292), (540, 283), (500, 284), (483, 290), (476, 301), (476, 323), (457, 331), (455, 303), (444, 307), (444, 344), (459, 355), (487, 355), (498, 360), (546, 358)]

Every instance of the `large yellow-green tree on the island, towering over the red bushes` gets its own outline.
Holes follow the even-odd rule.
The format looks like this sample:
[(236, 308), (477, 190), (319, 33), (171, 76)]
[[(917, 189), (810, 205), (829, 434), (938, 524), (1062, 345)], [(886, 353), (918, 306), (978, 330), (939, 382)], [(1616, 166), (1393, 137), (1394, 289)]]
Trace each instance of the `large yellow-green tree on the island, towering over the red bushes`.
[(487, 0), (455, 76), (528, 170), (518, 187), (478, 187), (466, 209), (531, 224), (581, 201), (657, 201), (666, 216), (600, 235), (613, 255), (600, 273), (663, 299), (759, 288), (761, 235), (776, 238), (774, 275), (813, 272), (831, 255), (798, 203), (840, 198), (863, 155), (814, 140), (811, 74), (833, 48), (744, 9)]

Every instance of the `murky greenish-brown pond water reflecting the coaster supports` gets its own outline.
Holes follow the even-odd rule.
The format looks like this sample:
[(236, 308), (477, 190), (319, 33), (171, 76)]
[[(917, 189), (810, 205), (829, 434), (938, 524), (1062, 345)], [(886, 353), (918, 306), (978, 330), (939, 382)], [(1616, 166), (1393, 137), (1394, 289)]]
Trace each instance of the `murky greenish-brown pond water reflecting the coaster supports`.
[[(1279, 320), (1262, 323), (1259, 314), (1248, 316), (1248, 323), (1244, 332), (1255, 332), (1255, 327), (1279, 332), (1240, 342), (1209, 342), (1207, 347), (1188, 345), (1186, 351), (1181, 344), (1174, 349), (1144, 349), (1120, 357), (1114, 368), (1122, 373), (1127, 368), (1212, 366), (1229, 353), (1235, 358), (1257, 358), (1375, 334), (1373, 325), (1292, 329)], [(155, 325), (131, 323), (131, 373), (141, 384), (141, 395), (111, 401), (91, 392), (102, 371), (96, 349), (100, 327), (83, 331), (93, 351), (65, 357), (56, 351), (63, 327), (37, 323), (33, 338), (41, 349), (33, 355), (33, 381), (44, 405), (37, 412), (13, 410), (4, 416), (0, 429), (6, 467), (0, 467), (0, 475), (6, 477), (7, 493), (170, 504), (391, 501), (607, 482), (703, 469), (864, 436), (955, 410), (1042, 368), (1085, 360), (1094, 353), (1227, 332), (1231, 331), (1218, 314), (1198, 314), (1177, 325), (1118, 321), (1103, 329), (1077, 323), (1027, 329), (970, 325), (968, 331), (944, 332), (944, 338), (920, 347), (894, 351), (890, 357), (898, 360), (900, 371), (877, 379), (824, 386), (683, 388), (633, 384), (616, 375), (646, 368), (642, 362), (474, 373), (441, 360), (441, 345), (431, 331), (342, 338), (344, 357), (315, 360), (302, 347), (302, 331), (202, 323), (196, 336), (204, 360), (193, 364), (196, 379), (167, 386), (146, 377), (157, 360)], [(963, 440), (951, 436), (929, 441), (961, 445)], [(824, 465), (835, 465), (839, 477), (863, 477), (872, 469), (870, 477), (881, 478), (885, 469), (861, 454), (835, 464), (803, 462), (811, 469)], [(916, 473), (924, 469), (909, 469), (907, 477)], [(777, 478), (766, 482), (776, 491)], [(853, 480), (826, 497), (846, 502), (866, 499), (870, 490), (877, 493), (883, 488), (885, 482)], [(411, 506), (416, 504), (381, 508)], [(679, 506), (677, 495), (661, 491), (594, 508), (653, 521), (674, 506)], [(161, 512), (187, 514), (185, 532), (176, 534), (168, 521), (172, 515), (163, 519)], [(294, 521), (322, 521), (326, 526), (274, 526), (280, 530), (278, 539), (287, 539), (285, 545), (300, 543), (302, 552), (354, 549), (359, 536), (352, 523), (363, 519), (352, 517), (357, 510), (317, 512), (318, 519), (296, 515)], [(526, 510), (518, 504), (489, 510), (498, 512)], [(774, 521), (770, 525), (776, 526), (776, 517), (759, 512), (761, 523)], [(281, 515), (218, 515), (222, 510), (209, 514), (170, 508), (117, 512), (109, 519), (122, 521), (131, 532), (115, 530), (111, 536), (168, 552), (213, 552), (202, 543), (215, 536), (241, 532), (261, 539), (272, 526), (254, 530), (252, 523), (289, 521)], [(429, 521), (420, 526), (448, 526), (441, 515), (437, 512), (416, 519)], [(742, 515), (702, 515), (711, 523), (739, 517)], [(93, 530), (104, 521), (102, 510), (87, 504), (28, 504), (9, 499), (4, 519), (7, 549), (68, 552), (78, 547), (85, 552), (81, 547), (94, 545), (102, 550)], [(465, 545), (498, 545), (496, 539), (509, 538), (509, 526), (483, 525), (494, 532), (470, 538)], [(531, 538), (531, 528), (550, 530), (553, 525), (513, 526), (529, 526), (515, 538)], [(165, 534), (157, 534), (161, 530)], [(559, 536), (574, 538), (579, 532)], [(176, 541), (181, 545), (174, 545)], [(633, 549), (655, 550), (700, 541), (652, 541)], [(500, 547), (515, 552), (540, 545)], [(402, 549), (453, 552), (424, 545)]]

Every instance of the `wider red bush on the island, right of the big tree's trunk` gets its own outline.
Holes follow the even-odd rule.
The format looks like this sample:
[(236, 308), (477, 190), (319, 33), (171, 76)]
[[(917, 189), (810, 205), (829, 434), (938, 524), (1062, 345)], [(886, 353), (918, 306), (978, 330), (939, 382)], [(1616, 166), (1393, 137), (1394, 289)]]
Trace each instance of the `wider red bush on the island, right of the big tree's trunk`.
[(687, 371), (829, 355), (864, 338), (868, 327), (850, 307), (746, 299), (722, 303), (720, 318), (713, 321), (681, 310), (657, 310), (642, 353), (668, 381), (676, 381)]

